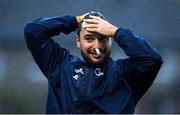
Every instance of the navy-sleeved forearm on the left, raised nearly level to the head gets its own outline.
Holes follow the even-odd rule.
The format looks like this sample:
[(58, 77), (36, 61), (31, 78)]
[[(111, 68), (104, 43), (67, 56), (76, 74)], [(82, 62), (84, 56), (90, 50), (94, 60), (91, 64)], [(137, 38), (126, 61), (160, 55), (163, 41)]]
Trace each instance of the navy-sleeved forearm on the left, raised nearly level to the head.
[(25, 27), (25, 34), (31, 33), (37, 39), (49, 39), (61, 32), (69, 34), (77, 28), (77, 20), (74, 16), (41, 18), (30, 22)]

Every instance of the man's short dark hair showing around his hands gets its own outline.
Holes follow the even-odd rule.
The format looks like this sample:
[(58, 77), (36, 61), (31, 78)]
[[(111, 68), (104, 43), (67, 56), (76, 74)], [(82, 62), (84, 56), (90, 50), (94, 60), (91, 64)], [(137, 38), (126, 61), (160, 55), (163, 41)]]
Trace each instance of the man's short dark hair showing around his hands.
[[(102, 19), (105, 19), (104, 16), (100, 13), (100, 12), (88, 12), (83, 19), (90, 19), (90, 16), (97, 16), (97, 17), (100, 17)], [(83, 19), (82, 21), (79, 23), (79, 26), (76, 30), (76, 34), (78, 35), (78, 37), (80, 36), (80, 31), (82, 29), (82, 22), (83, 22)]]

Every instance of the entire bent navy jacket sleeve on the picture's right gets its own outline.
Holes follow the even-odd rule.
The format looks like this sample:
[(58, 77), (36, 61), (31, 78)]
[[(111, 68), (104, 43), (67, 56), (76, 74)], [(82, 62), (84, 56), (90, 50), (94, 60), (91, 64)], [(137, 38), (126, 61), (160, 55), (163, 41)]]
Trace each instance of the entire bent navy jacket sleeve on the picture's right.
[(119, 28), (114, 40), (128, 56), (119, 60), (118, 65), (138, 101), (152, 85), (162, 65), (162, 58), (155, 48), (129, 29)]

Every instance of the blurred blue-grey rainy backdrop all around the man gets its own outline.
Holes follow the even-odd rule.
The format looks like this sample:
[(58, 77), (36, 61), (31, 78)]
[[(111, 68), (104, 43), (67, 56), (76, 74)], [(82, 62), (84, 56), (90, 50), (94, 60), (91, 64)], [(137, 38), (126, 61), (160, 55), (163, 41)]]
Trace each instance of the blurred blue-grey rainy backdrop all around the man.
[[(140, 100), (136, 113), (180, 113), (179, 0), (1, 0), (0, 113), (45, 112), (47, 80), (26, 48), (24, 25), (38, 17), (80, 15), (91, 10), (102, 12), (119, 27), (131, 27), (163, 57), (163, 66)], [(75, 34), (58, 37), (54, 40), (80, 56), (72, 39)], [(125, 55), (114, 44), (111, 57), (125, 58)]]

